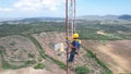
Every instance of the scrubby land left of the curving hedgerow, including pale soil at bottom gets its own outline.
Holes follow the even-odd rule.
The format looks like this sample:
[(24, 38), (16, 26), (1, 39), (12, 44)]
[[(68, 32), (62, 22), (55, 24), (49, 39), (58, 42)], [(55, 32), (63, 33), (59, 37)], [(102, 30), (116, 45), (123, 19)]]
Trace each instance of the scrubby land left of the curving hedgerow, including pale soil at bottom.
[[(0, 74), (66, 74), (53, 61), (44, 59), (38, 47), (24, 35), (0, 38)], [(44, 69), (35, 70), (39, 62)]]

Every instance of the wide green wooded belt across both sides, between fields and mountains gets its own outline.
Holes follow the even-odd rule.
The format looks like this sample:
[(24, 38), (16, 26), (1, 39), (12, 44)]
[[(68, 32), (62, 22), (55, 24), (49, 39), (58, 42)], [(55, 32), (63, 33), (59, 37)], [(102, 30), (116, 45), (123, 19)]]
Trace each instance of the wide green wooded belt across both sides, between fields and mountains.
[[(92, 40), (119, 40), (131, 38), (130, 24), (100, 24), (100, 21), (76, 23), (76, 29), (82, 39)], [(104, 30), (109, 35), (99, 35)], [(119, 34), (118, 32), (124, 34)], [(0, 37), (20, 34), (38, 34), (47, 32), (64, 32), (64, 22), (33, 22), (31, 24), (3, 24), (0, 25)], [(129, 33), (129, 35), (127, 34)]]

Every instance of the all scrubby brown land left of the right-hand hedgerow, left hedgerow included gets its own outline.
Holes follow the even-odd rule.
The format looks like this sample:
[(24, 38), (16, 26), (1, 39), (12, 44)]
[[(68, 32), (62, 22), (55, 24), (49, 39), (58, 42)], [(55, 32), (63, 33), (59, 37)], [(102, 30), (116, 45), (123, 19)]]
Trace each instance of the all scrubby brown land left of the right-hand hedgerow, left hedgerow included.
[[(4, 48), (1, 54), (2, 67), (5, 66), (9, 69), (7, 64), (10, 64), (10, 69), (22, 67), (19, 70), (2, 70), (1, 74), (17, 74), (19, 72), (22, 72), (21, 74), (33, 74), (35, 72), (35, 74), (64, 74), (66, 50), (59, 52), (53, 49), (56, 44), (66, 42), (64, 37), (64, 33), (49, 32), (33, 35), (13, 35), (0, 38), (0, 45)], [(66, 44), (64, 48), (67, 48)], [(13, 49), (17, 50), (14, 51)], [(43, 63), (45, 67), (35, 70), (34, 65), (39, 62)], [(88, 74), (108, 72), (108, 74), (110, 74), (110, 71), (98, 62), (99, 60), (97, 60), (94, 54), (90, 53), (86, 48), (81, 48), (80, 54), (75, 55), (74, 62), (69, 63), (70, 73), (74, 74), (78, 66), (86, 66), (90, 70)], [(26, 69), (23, 66), (25, 64)], [(27, 72), (25, 73), (24, 71)]]

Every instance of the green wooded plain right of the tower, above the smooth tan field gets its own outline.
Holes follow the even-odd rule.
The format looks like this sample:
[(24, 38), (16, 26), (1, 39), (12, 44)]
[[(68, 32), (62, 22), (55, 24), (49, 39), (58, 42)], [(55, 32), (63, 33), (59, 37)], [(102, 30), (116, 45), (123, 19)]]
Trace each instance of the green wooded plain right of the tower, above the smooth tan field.
[[(129, 26), (129, 25), (128, 25)], [(106, 35), (97, 34), (97, 32), (104, 30)], [(118, 32), (123, 32), (124, 34), (119, 34)], [(131, 35), (131, 28), (127, 27), (124, 24), (116, 24), (116, 25), (100, 25), (99, 23), (78, 23), (78, 32), (80, 34), (81, 39), (92, 39), (92, 40), (120, 40), (120, 39), (129, 39)]]

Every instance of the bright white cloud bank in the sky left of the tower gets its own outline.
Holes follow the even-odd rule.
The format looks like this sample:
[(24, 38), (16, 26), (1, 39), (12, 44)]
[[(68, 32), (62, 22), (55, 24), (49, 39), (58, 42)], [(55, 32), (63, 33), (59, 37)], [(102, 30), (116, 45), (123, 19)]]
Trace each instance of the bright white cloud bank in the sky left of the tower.
[(64, 4), (64, 0), (17, 0), (12, 4), (13, 8), (0, 8), (0, 11), (57, 11)]

